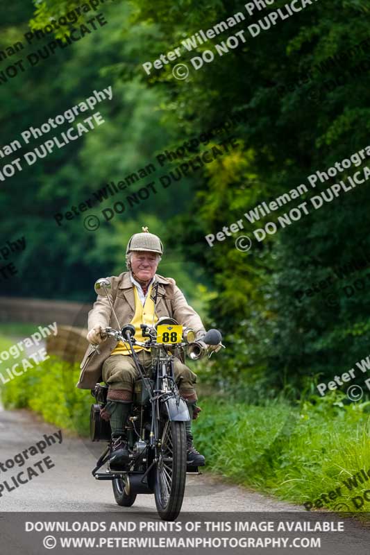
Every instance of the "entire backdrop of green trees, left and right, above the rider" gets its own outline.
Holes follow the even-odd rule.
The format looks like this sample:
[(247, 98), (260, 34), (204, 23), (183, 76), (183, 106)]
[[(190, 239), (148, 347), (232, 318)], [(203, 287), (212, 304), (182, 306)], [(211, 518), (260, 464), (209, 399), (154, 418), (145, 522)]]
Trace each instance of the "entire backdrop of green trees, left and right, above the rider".
[[(50, 17), (76, 6), (78, 1), (35, 1), (32, 12), (31, 2), (13, 2), (3, 17), (1, 48), (19, 40), (30, 21), (33, 30), (42, 29)], [(246, 32), (246, 43), (191, 71), (186, 80), (174, 79), (170, 64), (151, 76), (144, 73), (142, 63), (240, 9), (234, 1), (221, 0), (206, 5), (194, 0), (106, 3), (101, 7), (106, 26), (1, 85), (0, 123), (7, 143), (94, 89), (112, 85), (114, 93), (111, 103), (99, 105), (106, 120), (99, 130), (27, 167), (26, 186), (25, 172), (18, 172), (1, 188), (4, 241), (19, 235), (27, 241), (15, 259), (18, 275), (6, 287), (12, 295), (92, 300), (94, 280), (124, 269), (129, 234), (149, 223), (165, 242), (160, 271), (173, 275), (202, 315), (207, 309), (209, 325), (224, 333), (227, 349), (212, 365), (223, 390), (260, 398), (268, 390), (274, 398), (289, 389), (291, 397), (299, 396), (308, 381), (330, 379), (368, 354), (370, 287), (351, 298), (342, 291), (357, 278), (368, 282), (365, 271), (337, 281), (330, 290), (337, 306), (326, 304), (326, 291), (302, 301), (294, 296), (333, 275), (335, 266), (369, 252), (364, 232), (369, 223), (367, 185), (262, 244), (254, 240), (249, 253), (235, 248), (236, 236), (216, 241), (213, 248), (204, 236), (367, 145), (369, 75), (351, 76), (367, 53), (358, 51), (339, 66), (315, 68), (367, 38), (369, 7), (363, 0), (314, 3), (255, 39)], [(232, 34), (221, 33), (180, 61), (190, 65), (193, 55), (214, 49)], [(41, 48), (50, 38), (29, 49)], [(308, 72), (312, 77), (302, 83)], [(328, 82), (342, 74), (344, 83), (330, 90)], [(227, 155), (168, 189), (158, 178), (187, 157), (158, 167), (153, 175), (158, 194), (126, 207), (97, 232), (83, 228), (83, 214), (56, 225), (54, 214), (64, 214), (108, 182), (145, 167), (166, 148), (176, 148), (235, 114), (242, 119), (226, 135), (235, 136), (239, 146)], [(226, 135), (201, 145), (194, 155)], [(148, 182), (136, 183), (129, 193)], [(323, 188), (326, 184), (318, 184), (315, 192)], [(125, 196), (105, 200), (92, 213), (100, 214)], [(256, 227), (276, 216), (255, 225), (244, 219), (242, 233), (252, 236)], [(315, 266), (312, 257), (318, 261)]]

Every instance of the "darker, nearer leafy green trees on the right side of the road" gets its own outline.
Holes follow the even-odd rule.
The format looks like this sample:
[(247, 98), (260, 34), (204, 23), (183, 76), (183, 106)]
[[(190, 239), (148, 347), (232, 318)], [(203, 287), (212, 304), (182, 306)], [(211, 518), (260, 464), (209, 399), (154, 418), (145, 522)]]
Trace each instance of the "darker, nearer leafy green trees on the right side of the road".
[[(143, 50), (137, 53), (142, 62), (147, 51), (155, 58), (181, 38), (225, 20), (238, 9), (234, 2), (221, 5), (215, 0), (206, 11), (188, 9), (179, 18), (178, 8), (169, 1), (162, 1), (158, 12), (140, 0), (133, 4), (137, 24), (147, 30), (149, 46), (145, 55)], [(363, 2), (317, 3), (258, 38), (249, 37), (233, 54), (216, 56), (211, 64), (191, 71), (187, 80), (171, 78), (171, 65), (149, 79), (155, 89), (161, 86), (167, 93), (167, 112), (177, 119), (179, 138), (184, 130), (189, 135), (201, 133), (230, 114), (244, 115), (232, 131), (239, 148), (204, 169), (202, 179), (196, 181), (193, 210), (179, 221), (184, 252), (207, 268), (219, 291), (209, 312), (226, 334), (228, 350), (214, 370), (230, 392), (242, 382), (242, 389), (253, 393), (268, 386), (274, 396), (289, 386), (299, 395), (308, 377), (329, 378), (333, 371), (342, 373), (368, 354), (364, 324), (369, 287), (351, 299), (342, 291), (338, 306), (326, 304), (327, 292), (304, 302), (294, 296), (295, 291), (310, 289), (312, 283), (333, 274), (335, 266), (369, 251), (363, 232), (369, 221), (367, 185), (278, 230), (262, 244), (254, 240), (249, 253), (235, 249), (236, 235), (215, 241), (212, 248), (203, 239), (263, 200), (273, 200), (306, 182), (314, 171), (326, 170), (367, 146), (369, 75), (351, 76), (366, 53), (360, 51), (342, 67), (333, 65), (321, 73), (313, 69), (367, 37), (365, 13)], [(167, 38), (165, 45), (153, 39), (153, 28), (156, 37)], [(202, 49), (215, 50), (213, 43), (231, 34), (223, 33), (180, 61), (191, 67), (192, 56)], [(297, 85), (310, 70), (313, 77), (308, 83)], [(328, 82), (344, 73), (344, 84), (329, 90)], [(279, 87), (285, 87), (281, 94)], [(316, 194), (328, 186), (319, 185)], [(276, 214), (254, 225), (244, 219), (241, 234), (253, 237), (253, 229), (275, 220)], [(317, 266), (310, 266), (311, 257), (319, 260)], [(338, 289), (347, 282), (345, 278), (338, 282)], [(358, 330), (346, 336), (345, 347), (344, 329)]]

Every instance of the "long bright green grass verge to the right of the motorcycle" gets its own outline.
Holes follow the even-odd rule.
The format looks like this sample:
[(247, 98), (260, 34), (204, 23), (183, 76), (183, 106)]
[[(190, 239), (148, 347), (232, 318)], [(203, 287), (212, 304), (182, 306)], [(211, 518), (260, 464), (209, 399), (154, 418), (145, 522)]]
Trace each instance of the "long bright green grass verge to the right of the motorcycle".
[[(312, 502), (369, 468), (369, 403), (339, 399), (330, 395), (301, 408), (286, 401), (255, 407), (202, 399), (196, 445), (213, 472), (296, 504)], [(325, 508), (344, 502), (355, 511), (351, 498), (360, 493), (343, 486), (342, 497)]]

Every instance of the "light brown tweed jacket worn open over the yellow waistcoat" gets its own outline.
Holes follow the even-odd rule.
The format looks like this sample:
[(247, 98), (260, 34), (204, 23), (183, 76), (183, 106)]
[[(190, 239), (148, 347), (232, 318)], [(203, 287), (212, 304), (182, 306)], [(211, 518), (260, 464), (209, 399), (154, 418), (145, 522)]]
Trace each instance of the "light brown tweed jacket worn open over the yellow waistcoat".
[[(112, 284), (111, 297), (115, 313), (121, 327), (128, 324), (135, 314), (134, 285), (130, 280), (130, 273), (123, 272), (113, 275), (110, 279)], [(205, 329), (199, 314), (187, 304), (185, 296), (176, 286), (172, 278), (163, 278), (155, 274), (155, 282), (158, 282), (158, 296), (155, 303), (155, 314), (158, 318), (169, 316), (175, 318), (178, 323), (191, 327), (196, 332), (196, 339), (205, 334)], [(97, 296), (94, 306), (89, 312), (88, 329), (95, 325), (101, 327), (114, 327), (117, 330), (117, 322), (112, 314), (108, 298)], [(87, 348), (83, 361), (81, 362), (81, 374), (76, 386), (81, 389), (92, 389), (95, 384), (102, 381), (101, 368), (103, 362), (108, 359), (110, 353), (117, 345), (117, 341), (109, 337), (99, 345), (100, 355), (94, 354), (91, 345)]]

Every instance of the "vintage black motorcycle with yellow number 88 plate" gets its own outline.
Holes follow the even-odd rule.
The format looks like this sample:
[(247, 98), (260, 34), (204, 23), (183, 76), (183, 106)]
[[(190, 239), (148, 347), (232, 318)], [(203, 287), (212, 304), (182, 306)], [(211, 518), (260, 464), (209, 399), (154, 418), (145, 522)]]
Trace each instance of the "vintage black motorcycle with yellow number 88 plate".
[[(96, 293), (107, 296), (117, 320), (108, 291), (110, 288), (108, 278), (95, 284)], [(118, 320), (117, 325), (120, 327)], [(92, 390), (96, 403), (90, 413), (90, 438), (92, 441), (108, 441), (92, 475), (98, 480), (112, 481), (115, 500), (120, 506), (132, 506), (137, 494), (154, 494), (160, 518), (175, 520), (183, 504), (187, 472), (200, 472), (186, 464), (185, 422), (190, 420), (190, 415), (174, 379), (174, 358), (184, 359), (186, 350), (190, 359), (196, 360), (206, 354), (211, 356), (224, 345), (221, 345), (218, 330), (210, 330), (202, 341), (195, 341), (194, 331), (178, 325), (173, 318), (160, 318), (153, 326), (142, 325), (142, 330), (143, 336), (148, 338), (145, 342), (135, 341), (135, 327), (131, 324), (118, 330), (112, 327), (103, 330), (107, 336), (128, 345), (140, 378), (135, 382), (133, 409), (126, 425), (130, 461), (122, 470), (112, 470), (109, 466), (110, 422), (101, 418), (108, 386), (96, 384)], [(144, 374), (134, 344), (151, 350), (149, 375)], [(92, 346), (99, 352), (98, 345)], [(106, 472), (98, 472), (105, 463), (108, 463)]]

